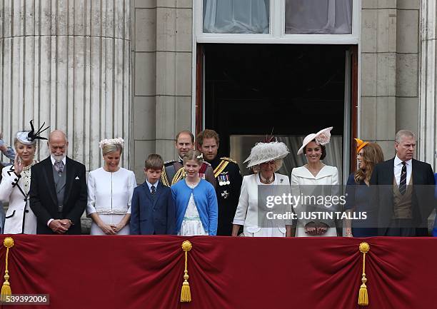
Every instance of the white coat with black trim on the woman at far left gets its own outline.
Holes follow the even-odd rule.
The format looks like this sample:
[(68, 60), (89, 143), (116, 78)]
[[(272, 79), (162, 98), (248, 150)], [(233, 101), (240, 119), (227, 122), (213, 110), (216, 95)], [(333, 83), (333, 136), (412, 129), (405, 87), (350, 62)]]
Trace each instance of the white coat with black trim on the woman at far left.
[(15, 175), (14, 166), (6, 166), (1, 171), (0, 201), (9, 202), (4, 233), (36, 234), (36, 216), (29, 206), (31, 166), (23, 168), (20, 176)]

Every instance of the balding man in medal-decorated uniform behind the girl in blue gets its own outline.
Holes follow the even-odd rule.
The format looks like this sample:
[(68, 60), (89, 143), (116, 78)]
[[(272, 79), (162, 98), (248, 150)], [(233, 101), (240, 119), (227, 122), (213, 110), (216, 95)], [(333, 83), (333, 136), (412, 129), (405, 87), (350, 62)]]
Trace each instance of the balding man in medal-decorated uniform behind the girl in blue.
[[(184, 155), (190, 151), (194, 150), (194, 135), (190, 131), (181, 131), (176, 135), (176, 140), (174, 143), (176, 150), (178, 151), (179, 158), (177, 160), (166, 161), (162, 168), (161, 182), (165, 186), (171, 186), (177, 183), (181, 179), (186, 177), (184, 170)], [(211, 168), (211, 164), (204, 161), (199, 170), (199, 176), (216, 187), (216, 178), (214, 177), (214, 171)]]

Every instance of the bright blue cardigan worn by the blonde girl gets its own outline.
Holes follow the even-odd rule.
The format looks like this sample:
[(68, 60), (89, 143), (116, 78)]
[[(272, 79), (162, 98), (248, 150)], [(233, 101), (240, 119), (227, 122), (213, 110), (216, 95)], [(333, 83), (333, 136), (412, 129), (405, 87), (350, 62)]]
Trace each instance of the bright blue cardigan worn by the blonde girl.
[(209, 235), (217, 234), (217, 196), (216, 190), (208, 181), (201, 179), (196, 188), (191, 189), (186, 185), (185, 179), (181, 179), (171, 186), (171, 193), (176, 203), (176, 231), (181, 231), (182, 221), (188, 207), (191, 193), (201, 219), (202, 226)]

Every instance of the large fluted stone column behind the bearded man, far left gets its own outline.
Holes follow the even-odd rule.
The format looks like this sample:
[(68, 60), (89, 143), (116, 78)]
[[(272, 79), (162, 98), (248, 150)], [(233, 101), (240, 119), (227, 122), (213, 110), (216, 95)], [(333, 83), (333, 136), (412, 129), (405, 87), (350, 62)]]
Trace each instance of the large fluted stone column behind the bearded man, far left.
[(68, 155), (92, 170), (102, 165), (99, 141), (120, 136), (129, 167), (130, 1), (9, 0), (0, 16), (5, 138), (45, 121), (66, 132)]

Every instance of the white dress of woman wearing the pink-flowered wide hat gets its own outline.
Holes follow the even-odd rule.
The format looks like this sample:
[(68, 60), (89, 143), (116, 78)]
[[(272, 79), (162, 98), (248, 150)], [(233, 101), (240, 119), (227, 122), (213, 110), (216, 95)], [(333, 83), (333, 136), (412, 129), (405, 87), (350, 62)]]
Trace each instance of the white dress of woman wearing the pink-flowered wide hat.
[[(291, 171), (291, 194), (293, 196), (318, 196), (319, 194), (314, 193), (313, 190), (323, 191), (323, 196), (331, 195), (338, 196), (340, 194), (340, 186), (338, 183), (338, 170), (335, 166), (323, 166), (316, 176), (308, 171), (305, 166), (300, 166), (298, 168), (293, 168)], [(327, 190), (329, 192), (327, 192)], [(311, 192), (310, 192), (311, 191)], [(305, 225), (311, 221), (317, 221), (321, 223), (326, 223), (328, 226), (333, 226), (334, 221), (329, 219), (303, 219), (299, 220), (302, 216), (305, 216), (311, 211), (316, 212), (330, 212), (335, 211), (333, 206), (318, 206), (318, 209), (313, 208), (313, 206), (303, 206), (302, 203), (298, 203), (294, 208), (296, 216), (298, 216), (297, 226), (296, 226), (296, 237), (326, 237), (326, 236), (336, 236), (337, 231), (335, 227), (328, 228), (328, 231), (322, 235), (308, 235), (305, 233)]]

